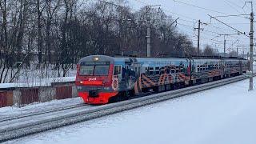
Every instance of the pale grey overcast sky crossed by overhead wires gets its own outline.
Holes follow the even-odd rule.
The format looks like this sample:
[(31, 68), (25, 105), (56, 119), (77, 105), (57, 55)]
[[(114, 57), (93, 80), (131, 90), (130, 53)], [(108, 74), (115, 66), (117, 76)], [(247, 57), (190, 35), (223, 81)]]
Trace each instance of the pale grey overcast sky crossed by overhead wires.
[[(223, 16), (228, 14), (250, 14), (250, 3), (244, 6), (243, 0), (127, 0), (130, 6), (138, 10), (146, 5), (161, 5), (166, 14), (178, 19), (178, 30), (183, 34), (187, 34), (197, 46), (197, 31), (194, 27), (198, 27), (198, 19), (207, 25), (202, 25), (204, 29), (201, 33), (201, 48), (206, 44), (223, 52), (223, 36), (217, 37), (218, 34), (237, 34), (237, 31), (230, 29), (228, 26), (212, 19), (212, 16)], [(256, 3), (254, 3), (255, 6)], [(244, 7), (243, 7), (244, 6)], [(199, 7), (199, 8), (198, 8)], [(243, 7), (243, 8), (242, 8)], [(254, 9), (256, 10), (256, 9)], [(248, 17), (248, 18), (245, 18)], [(222, 22), (226, 22), (235, 29), (248, 34), (250, 32), (250, 16), (226, 17), (218, 18)], [(255, 35), (255, 34), (254, 34)], [(214, 38), (212, 40), (212, 38)], [(236, 50), (238, 46), (239, 54), (244, 50), (249, 50), (250, 39), (244, 35), (232, 35), (226, 37), (226, 49)], [(226, 51), (228, 52), (228, 51)]]

